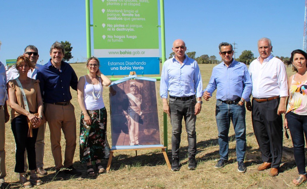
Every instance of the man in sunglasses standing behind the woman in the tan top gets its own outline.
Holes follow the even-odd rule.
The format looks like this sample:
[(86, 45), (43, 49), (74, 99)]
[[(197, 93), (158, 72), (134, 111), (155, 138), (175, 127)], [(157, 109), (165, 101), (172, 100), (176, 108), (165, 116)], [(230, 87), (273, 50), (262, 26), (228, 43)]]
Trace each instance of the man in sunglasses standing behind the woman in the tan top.
[[(35, 65), (34, 69), (30, 69), (28, 72), (28, 77), (32, 79), (36, 79), (37, 70), (42, 66), (40, 64), (37, 64), (38, 60), (38, 49), (34, 45), (28, 45), (25, 47), (25, 52), (23, 54), (24, 56), (28, 57), (30, 61)], [(12, 79), (16, 79), (19, 76), (19, 73), (16, 69), (16, 65), (12, 66), (7, 72), (6, 72), (6, 78), (7, 81), (10, 81)], [(37, 173), (41, 176), (47, 175), (47, 171), (43, 168), (44, 163), (44, 152), (45, 152), (45, 130), (46, 130), (46, 124), (38, 128), (37, 133), (37, 139), (35, 143), (35, 152), (36, 152), (36, 167), (37, 167)], [(28, 170), (28, 164), (27, 164), (27, 153), (25, 151), (25, 171)]]

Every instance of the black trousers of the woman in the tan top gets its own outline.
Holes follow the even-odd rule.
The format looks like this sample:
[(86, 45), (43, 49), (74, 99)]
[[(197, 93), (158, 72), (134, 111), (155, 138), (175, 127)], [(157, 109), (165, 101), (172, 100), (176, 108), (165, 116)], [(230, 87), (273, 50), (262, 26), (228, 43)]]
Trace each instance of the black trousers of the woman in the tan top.
[(27, 149), (29, 170), (36, 170), (35, 142), (38, 128), (32, 129), (33, 137), (28, 137), (29, 126), (27, 116), (15, 117), (11, 123), (12, 132), (16, 143), (16, 165), (15, 172), (23, 173), (25, 168), (25, 149)]

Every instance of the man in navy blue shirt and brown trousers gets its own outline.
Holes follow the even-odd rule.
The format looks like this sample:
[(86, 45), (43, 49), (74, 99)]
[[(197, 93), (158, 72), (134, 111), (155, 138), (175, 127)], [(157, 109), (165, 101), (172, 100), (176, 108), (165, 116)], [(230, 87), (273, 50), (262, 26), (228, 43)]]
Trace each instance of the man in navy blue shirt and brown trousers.
[[(37, 72), (41, 94), (44, 102), (46, 120), (50, 129), (51, 150), (55, 162), (56, 174), (64, 173), (81, 175), (73, 164), (76, 150), (76, 117), (75, 108), (70, 103), (70, 87), (77, 90), (78, 78), (72, 67), (62, 61), (64, 46), (55, 42), (50, 48), (51, 59)], [(64, 165), (61, 152), (61, 129), (65, 137)]]

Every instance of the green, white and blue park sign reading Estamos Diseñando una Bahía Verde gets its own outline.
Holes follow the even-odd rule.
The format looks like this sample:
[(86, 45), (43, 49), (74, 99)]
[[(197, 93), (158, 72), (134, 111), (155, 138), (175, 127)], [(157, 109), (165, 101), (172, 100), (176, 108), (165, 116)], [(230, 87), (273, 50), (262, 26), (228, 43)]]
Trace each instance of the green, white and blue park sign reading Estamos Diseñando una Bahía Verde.
[(93, 24), (104, 74), (159, 74), (157, 0), (93, 0)]

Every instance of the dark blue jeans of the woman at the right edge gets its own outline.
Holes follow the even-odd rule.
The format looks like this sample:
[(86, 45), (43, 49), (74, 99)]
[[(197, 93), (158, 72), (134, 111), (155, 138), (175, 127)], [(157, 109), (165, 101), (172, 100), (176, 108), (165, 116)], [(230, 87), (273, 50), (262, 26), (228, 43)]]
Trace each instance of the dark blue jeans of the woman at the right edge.
[[(288, 127), (290, 130), (293, 154), (297, 166), (298, 174), (305, 174), (305, 140), (307, 136), (307, 116), (301, 116), (293, 112), (286, 114)], [(306, 140), (307, 143), (307, 140)]]

